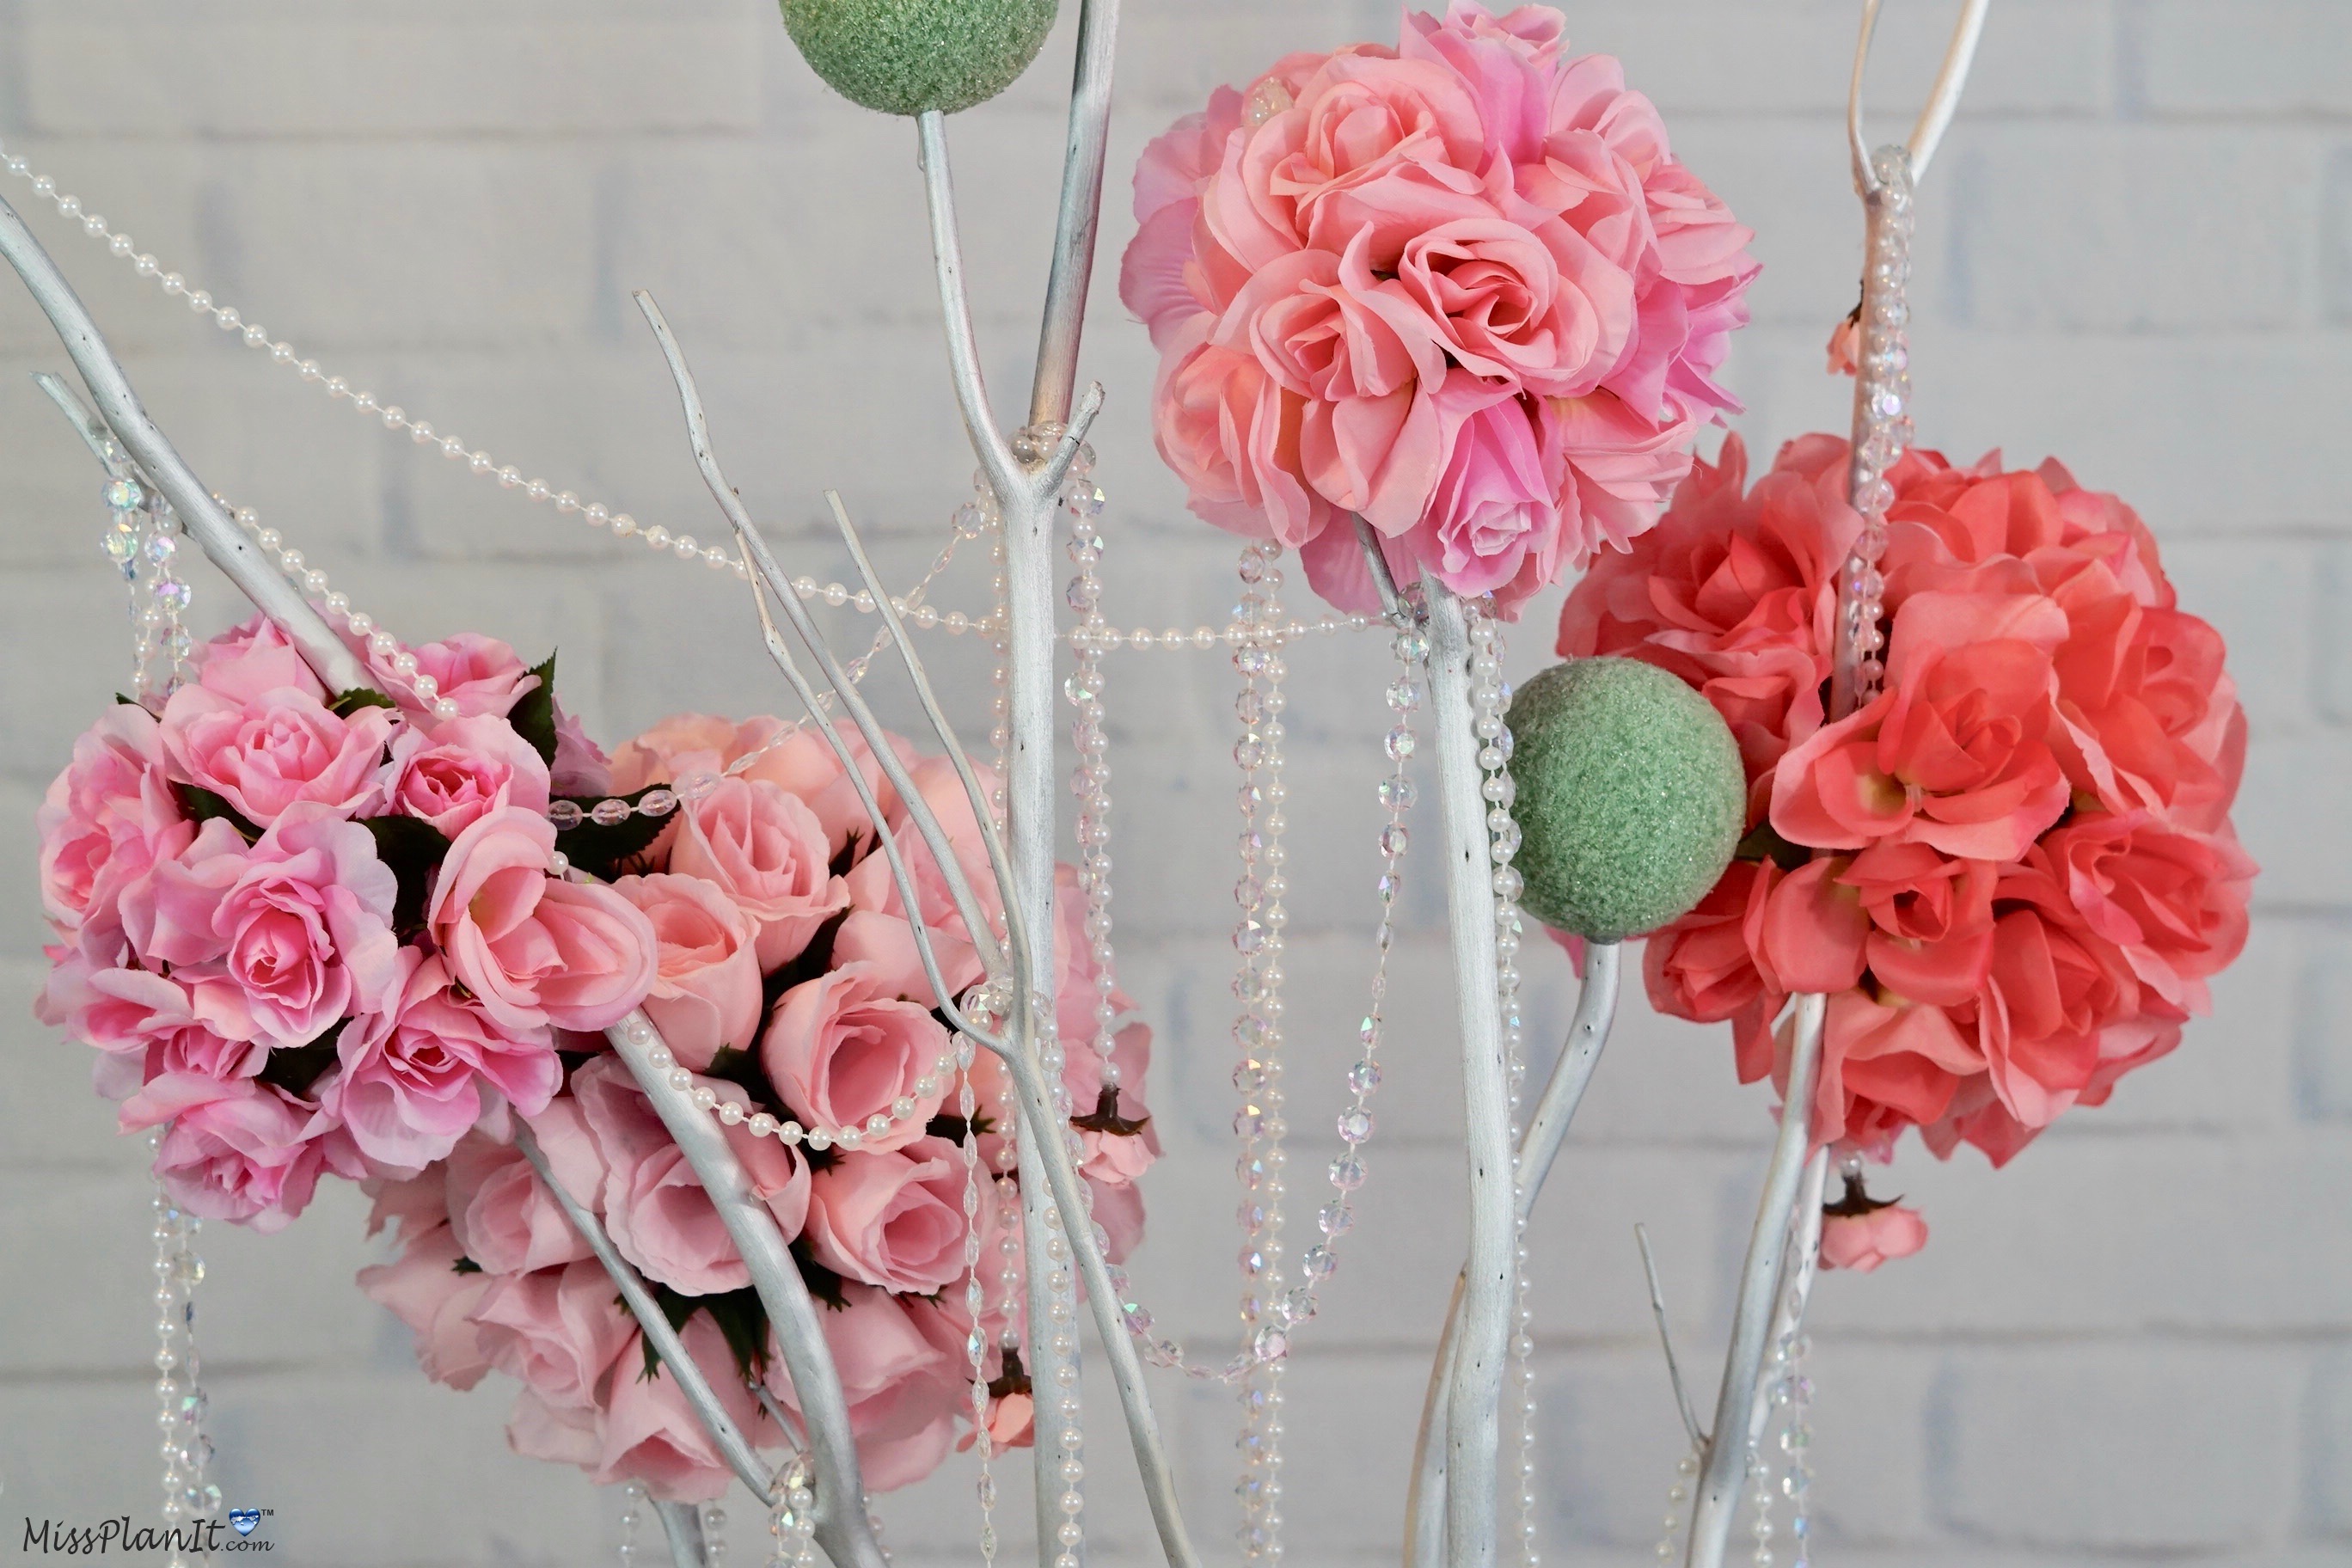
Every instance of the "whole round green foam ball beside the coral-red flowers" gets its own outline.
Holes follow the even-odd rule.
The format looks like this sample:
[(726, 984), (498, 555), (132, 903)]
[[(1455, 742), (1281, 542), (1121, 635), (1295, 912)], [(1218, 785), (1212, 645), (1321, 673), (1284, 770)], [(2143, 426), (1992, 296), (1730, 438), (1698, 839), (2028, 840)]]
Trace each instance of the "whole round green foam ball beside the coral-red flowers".
[(1708, 698), (1635, 658), (1571, 658), (1508, 717), (1529, 914), (1616, 943), (1708, 896), (1748, 820), (1740, 748)]

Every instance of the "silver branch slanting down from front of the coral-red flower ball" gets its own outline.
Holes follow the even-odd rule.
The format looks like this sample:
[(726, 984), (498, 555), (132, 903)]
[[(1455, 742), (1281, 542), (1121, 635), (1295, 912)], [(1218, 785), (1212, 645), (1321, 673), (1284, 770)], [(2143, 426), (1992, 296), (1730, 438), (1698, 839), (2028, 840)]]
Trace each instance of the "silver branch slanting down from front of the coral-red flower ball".
[(1722, 1568), (1724, 1547), (1731, 1542), (1731, 1519), (1740, 1505), (1740, 1479), (1748, 1472), (1748, 1420), (1778, 1312), (1780, 1260), (1788, 1253), (1790, 1220), (1804, 1190), (1804, 1166), (1813, 1152), (1813, 1081), (1820, 1072), (1825, 1011), (1828, 997), (1797, 997), (1788, 1093), (1780, 1098), (1780, 1135), (1773, 1140), (1771, 1164), (1764, 1168), (1764, 1194), (1757, 1199), (1757, 1222), (1748, 1237), (1748, 1260), (1740, 1267), (1731, 1349), (1724, 1354), (1712, 1436), (1698, 1472), (1698, 1493), (1691, 1500), (1686, 1568)]

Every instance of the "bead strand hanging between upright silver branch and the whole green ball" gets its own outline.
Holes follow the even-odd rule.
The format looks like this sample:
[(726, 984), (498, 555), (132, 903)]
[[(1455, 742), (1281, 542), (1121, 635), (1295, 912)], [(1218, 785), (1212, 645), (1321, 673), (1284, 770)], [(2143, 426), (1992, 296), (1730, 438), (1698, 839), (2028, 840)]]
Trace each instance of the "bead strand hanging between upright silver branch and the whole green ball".
[[(1519, 917), (1522, 879), (1512, 867), (1519, 853), (1519, 823), (1510, 816), (1517, 785), (1510, 778), (1512, 738), (1505, 710), (1510, 682), (1503, 679), (1503, 623), (1482, 604), (1470, 607), (1470, 731), (1479, 741), (1477, 764), (1484, 773), (1479, 795), (1486, 799), (1486, 856), (1494, 863), (1494, 945), (1496, 1001), (1503, 1025), (1503, 1060), (1510, 1081), (1510, 1175), (1519, 1178), (1519, 1121), (1526, 1098), (1526, 1016), (1519, 1009)], [(1536, 1312), (1529, 1300), (1526, 1204), (1515, 1201), (1512, 1246), (1517, 1248), (1510, 1342), (1512, 1401), (1519, 1432), (1519, 1559), (1536, 1568)]]

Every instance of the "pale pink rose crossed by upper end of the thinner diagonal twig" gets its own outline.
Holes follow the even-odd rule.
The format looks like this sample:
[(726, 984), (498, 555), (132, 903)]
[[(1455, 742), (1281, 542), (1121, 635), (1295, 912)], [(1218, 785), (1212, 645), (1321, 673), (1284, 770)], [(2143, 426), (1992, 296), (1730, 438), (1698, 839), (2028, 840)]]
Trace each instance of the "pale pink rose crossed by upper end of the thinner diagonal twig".
[[(581, 1103), (564, 1095), (524, 1119), (555, 1180), (593, 1213), (604, 1197), (604, 1159)], [(447, 1161), (447, 1201), (459, 1246), (492, 1274), (527, 1274), (590, 1255), (562, 1204), (510, 1143), (485, 1133), (459, 1138)]]

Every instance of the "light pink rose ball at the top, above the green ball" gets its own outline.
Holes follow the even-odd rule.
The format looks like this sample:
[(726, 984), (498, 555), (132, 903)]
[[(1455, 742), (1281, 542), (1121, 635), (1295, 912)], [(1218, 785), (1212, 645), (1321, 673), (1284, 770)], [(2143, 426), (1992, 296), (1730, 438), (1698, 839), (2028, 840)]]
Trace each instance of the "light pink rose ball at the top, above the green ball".
[(1120, 296), (1160, 348), (1160, 454), (1216, 527), (1376, 609), (1399, 576), (1503, 614), (1649, 527), (1757, 273), (1616, 61), (1559, 12), (1456, 0), (1395, 49), (1221, 87), (1136, 167)]

